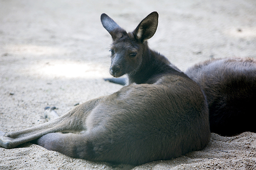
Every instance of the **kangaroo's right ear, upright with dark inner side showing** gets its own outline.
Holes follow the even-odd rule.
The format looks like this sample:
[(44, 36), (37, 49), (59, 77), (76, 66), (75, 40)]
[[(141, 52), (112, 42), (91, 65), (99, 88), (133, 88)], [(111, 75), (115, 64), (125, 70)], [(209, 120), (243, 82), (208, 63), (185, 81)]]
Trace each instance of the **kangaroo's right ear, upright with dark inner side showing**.
[(147, 15), (133, 31), (135, 38), (141, 42), (150, 39), (157, 31), (158, 13), (152, 12)]

